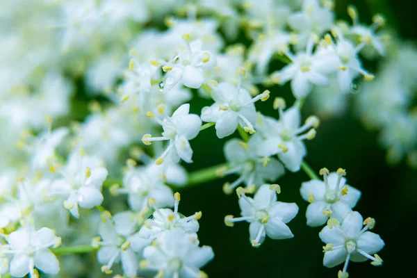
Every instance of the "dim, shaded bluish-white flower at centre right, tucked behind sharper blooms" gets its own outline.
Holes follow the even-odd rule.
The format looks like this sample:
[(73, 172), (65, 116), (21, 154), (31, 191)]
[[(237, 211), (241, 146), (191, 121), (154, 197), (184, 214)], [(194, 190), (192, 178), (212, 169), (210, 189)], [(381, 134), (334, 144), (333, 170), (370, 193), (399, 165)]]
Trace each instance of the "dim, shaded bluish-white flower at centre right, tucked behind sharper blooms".
[(226, 142), (224, 156), (231, 169), (223, 174), (238, 174), (240, 177), (233, 183), (224, 184), (225, 193), (232, 193), (243, 182), (249, 190), (252, 186), (261, 186), (265, 181), (276, 181), (284, 174), (284, 167), (276, 158), (258, 154), (261, 143), (262, 138), (256, 134), (247, 143), (236, 138)]

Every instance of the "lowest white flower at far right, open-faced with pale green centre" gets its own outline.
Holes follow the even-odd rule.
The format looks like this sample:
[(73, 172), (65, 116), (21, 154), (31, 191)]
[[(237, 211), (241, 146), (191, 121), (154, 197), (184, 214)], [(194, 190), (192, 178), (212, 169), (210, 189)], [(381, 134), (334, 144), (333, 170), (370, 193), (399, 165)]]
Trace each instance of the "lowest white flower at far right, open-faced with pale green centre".
[[(363, 225), (365, 227), (362, 228)], [(341, 225), (336, 219), (331, 218), (319, 234), (322, 242), (326, 243), (323, 247), (323, 264), (327, 268), (333, 268), (345, 262), (343, 271), (339, 271), (338, 276), (344, 278), (348, 276), (346, 270), (349, 261), (362, 262), (370, 259), (371, 264), (381, 265), (382, 259), (375, 253), (382, 250), (384, 241), (377, 234), (367, 231), (374, 225), (373, 218), (363, 221), (357, 211), (347, 213)]]

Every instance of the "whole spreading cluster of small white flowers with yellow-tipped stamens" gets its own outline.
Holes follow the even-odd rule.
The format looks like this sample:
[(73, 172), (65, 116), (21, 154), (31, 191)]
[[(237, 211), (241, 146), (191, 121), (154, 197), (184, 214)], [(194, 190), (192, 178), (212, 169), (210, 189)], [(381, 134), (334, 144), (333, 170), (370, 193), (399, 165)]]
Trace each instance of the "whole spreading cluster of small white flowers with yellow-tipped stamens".
[[(316, 137), (320, 120), (303, 119), (304, 100), (374, 79), (362, 59), (386, 54), (384, 18), (365, 26), (349, 7), (353, 24), (336, 22), (330, 0), (188, 2), (3, 1), (13, 32), (0, 28), (0, 275), (74, 277), (84, 262), (57, 256), (97, 252), (88, 263), (98, 276), (206, 277), (214, 254), (199, 246), (202, 213), (179, 213), (173, 190), (229, 174), (238, 177), (223, 190), (236, 191), (241, 215), (225, 224), (249, 222), (254, 247), (293, 238), (287, 224), (299, 208), (277, 201), (275, 182), (300, 171)], [(286, 65), (270, 68), (277, 60)], [(287, 82), (288, 107), (275, 97)], [(193, 97), (204, 99), (201, 111)], [(416, 117), (401, 115), (383, 120), (384, 142), (393, 156), (413, 156), (416, 129), (406, 129)], [(211, 126), (227, 163), (188, 173), (181, 163), (199, 159), (193, 140)], [(303, 183), (301, 195), (307, 224), (327, 222), (324, 264), (345, 261), (347, 277), (350, 260), (382, 263), (384, 243), (367, 231), (375, 221), (362, 229), (352, 212), (359, 190), (344, 170), (320, 173), (324, 183)]]

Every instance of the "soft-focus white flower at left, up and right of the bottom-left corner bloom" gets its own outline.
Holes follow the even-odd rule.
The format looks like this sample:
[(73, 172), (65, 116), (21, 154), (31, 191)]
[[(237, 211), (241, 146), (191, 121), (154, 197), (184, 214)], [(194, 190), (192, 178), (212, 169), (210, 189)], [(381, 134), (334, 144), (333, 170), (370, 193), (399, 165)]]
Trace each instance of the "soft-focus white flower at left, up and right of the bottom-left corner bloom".
[(79, 218), (79, 206), (93, 208), (103, 202), (101, 186), (108, 172), (97, 158), (74, 151), (61, 171), (63, 179), (51, 184), (51, 195), (65, 198), (64, 206), (74, 217)]

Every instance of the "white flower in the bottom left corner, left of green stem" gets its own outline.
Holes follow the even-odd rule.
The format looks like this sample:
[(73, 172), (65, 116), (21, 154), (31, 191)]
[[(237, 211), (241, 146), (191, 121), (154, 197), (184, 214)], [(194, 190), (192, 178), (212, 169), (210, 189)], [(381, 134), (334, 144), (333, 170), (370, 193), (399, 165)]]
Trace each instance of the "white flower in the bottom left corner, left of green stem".
[(4, 254), (13, 254), (10, 262), (10, 275), (24, 277), (29, 274), (35, 277), (34, 268), (42, 272), (56, 275), (59, 272), (59, 261), (50, 247), (58, 247), (60, 238), (49, 228), (42, 228), (38, 231), (19, 229), (7, 236), (9, 250), (1, 251)]

